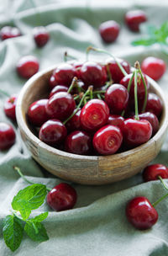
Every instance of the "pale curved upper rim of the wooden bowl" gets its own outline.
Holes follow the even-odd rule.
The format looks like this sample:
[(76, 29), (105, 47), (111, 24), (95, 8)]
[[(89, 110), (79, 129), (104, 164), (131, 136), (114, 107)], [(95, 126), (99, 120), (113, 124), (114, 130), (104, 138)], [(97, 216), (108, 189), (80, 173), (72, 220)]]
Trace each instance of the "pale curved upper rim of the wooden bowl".
[[(63, 63), (63, 62), (61, 62)], [(95, 161), (95, 160), (101, 160), (102, 158), (115, 158), (115, 157), (125, 157), (125, 155), (127, 154), (127, 156), (134, 154), (135, 152), (139, 152), (142, 150), (143, 147), (148, 147), (150, 145), (151, 141), (157, 141), (157, 138), (160, 137), (163, 132), (165, 131), (165, 129), (167, 129), (168, 127), (168, 104), (166, 104), (165, 101), (165, 94), (162, 91), (162, 88), (160, 88), (159, 84), (155, 82), (155, 80), (153, 80), (151, 77), (147, 77), (147, 80), (149, 81), (149, 83), (152, 85), (153, 88), (155, 88), (155, 90), (157, 91), (157, 93), (159, 93), (161, 96), (161, 100), (163, 102), (163, 106), (164, 106), (164, 112), (162, 113), (165, 114), (165, 119), (161, 120), (160, 123), (160, 129), (159, 131), (156, 132), (155, 136), (152, 136), (150, 138), (149, 141), (145, 142), (144, 144), (138, 146), (138, 147), (134, 147), (132, 149), (129, 149), (128, 151), (125, 152), (117, 152), (115, 154), (112, 155), (108, 155), (108, 156), (86, 156), (86, 155), (77, 155), (77, 154), (73, 154), (70, 152), (64, 152), (61, 151), (55, 147), (51, 147), (48, 144), (45, 144), (45, 142), (40, 141), (39, 138), (37, 136), (34, 135), (34, 133), (32, 131), (30, 131), (29, 126), (27, 125), (26, 121), (24, 120), (24, 116), (23, 116), (23, 112), (22, 112), (22, 104), (23, 104), (23, 99), (24, 99), (24, 93), (26, 93), (27, 89), (37, 80), (39, 79), (39, 77), (44, 76), (46, 73), (48, 72), (52, 72), (58, 65), (60, 65), (61, 63), (57, 63), (51, 67), (48, 67), (47, 69), (37, 72), (36, 74), (34, 74), (33, 77), (30, 77), (29, 80), (24, 84), (24, 87), (21, 89), (20, 93), (18, 94), (18, 99), (17, 99), (17, 104), (16, 104), (16, 119), (18, 122), (18, 127), (19, 129), (24, 130), (24, 133), (31, 138), (31, 141), (34, 141), (38, 147), (42, 147), (44, 150), (47, 150), (48, 152), (52, 152), (56, 155), (60, 155), (63, 157), (70, 157), (73, 159), (86, 159), (86, 160), (90, 160), (90, 161)]]

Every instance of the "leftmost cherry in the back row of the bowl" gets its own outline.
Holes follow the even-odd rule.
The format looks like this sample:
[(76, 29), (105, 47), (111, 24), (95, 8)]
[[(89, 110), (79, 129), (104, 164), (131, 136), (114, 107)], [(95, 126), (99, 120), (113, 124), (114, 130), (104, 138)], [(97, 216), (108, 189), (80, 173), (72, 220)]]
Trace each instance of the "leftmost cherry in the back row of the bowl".
[(76, 69), (71, 64), (62, 63), (53, 72), (57, 84), (71, 85), (73, 77), (76, 77)]

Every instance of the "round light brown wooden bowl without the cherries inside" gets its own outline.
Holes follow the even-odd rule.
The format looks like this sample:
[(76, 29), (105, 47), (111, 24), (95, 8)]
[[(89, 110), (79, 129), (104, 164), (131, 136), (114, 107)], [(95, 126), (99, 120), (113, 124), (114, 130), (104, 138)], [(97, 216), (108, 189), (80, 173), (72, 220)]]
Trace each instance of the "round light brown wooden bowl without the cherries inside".
[(63, 152), (39, 141), (39, 138), (34, 135), (34, 128), (29, 125), (27, 112), (30, 104), (37, 99), (45, 98), (49, 93), (46, 84), (55, 67), (39, 72), (29, 79), (19, 94), (16, 107), (21, 136), (32, 157), (43, 168), (61, 179), (79, 184), (110, 184), (139, 173), (157, 156), (165, 140), (168, 126), (168, 107), (164, 93), (150, 77), (148, 77), (150, 91), (155, 92), (163, 102), (160, 130), (150, 141), (127, 152), (98, 157)]

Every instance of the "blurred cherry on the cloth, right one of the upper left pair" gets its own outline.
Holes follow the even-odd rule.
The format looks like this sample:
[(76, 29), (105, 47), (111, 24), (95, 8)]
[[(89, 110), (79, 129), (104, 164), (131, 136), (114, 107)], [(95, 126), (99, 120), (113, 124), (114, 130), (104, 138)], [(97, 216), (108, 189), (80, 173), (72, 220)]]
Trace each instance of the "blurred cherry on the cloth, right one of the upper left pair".
[(48, 40), (50, 39), (50, 35), (47, 32), (47, 29), (45, 29), (45, 27), (43, 26), (35, 27), (33, 29), (33, 35), (34, 35), (35, 44), (38, 47), (45, 46)]

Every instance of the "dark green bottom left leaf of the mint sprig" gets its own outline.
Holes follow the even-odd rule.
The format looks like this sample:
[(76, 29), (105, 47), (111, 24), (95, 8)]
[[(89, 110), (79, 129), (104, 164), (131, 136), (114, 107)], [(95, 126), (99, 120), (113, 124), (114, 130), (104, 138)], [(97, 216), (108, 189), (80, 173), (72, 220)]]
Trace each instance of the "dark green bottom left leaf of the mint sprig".
[(22, 223), (16, 216), (8, 215), (3, 220), (3, 238), (11, 251), (14, 252), (19, 247), (23, 231)]

